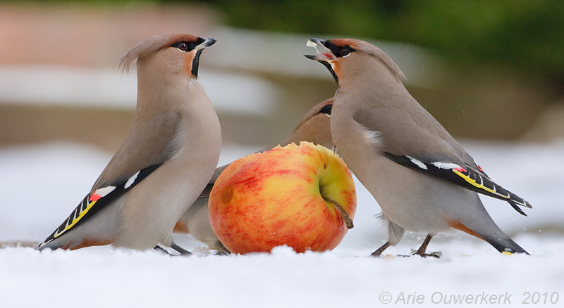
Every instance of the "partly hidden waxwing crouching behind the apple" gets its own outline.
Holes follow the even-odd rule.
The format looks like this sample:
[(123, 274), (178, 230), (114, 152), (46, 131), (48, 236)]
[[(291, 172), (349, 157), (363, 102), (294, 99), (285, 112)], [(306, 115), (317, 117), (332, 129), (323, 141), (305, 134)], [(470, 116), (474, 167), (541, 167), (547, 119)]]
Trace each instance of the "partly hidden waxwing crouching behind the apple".
[[(331, 138), (331, 130), (329, 128), (332, 105), (333, 98), (315, 105), (302, 117), (300, 124), (294, 129), (290, 137), (280, 143), (280, 145), (286, 146), (290, 143), (300, 144), (300, 141), (309, 141), (334, 149), (335, 146), (333, 146), (333, 139)], [(212, 225), (209, 224), (208, 198), (217, 177), (227, 166), (224, 165), (216, 169), (204, 192), (183, 216), (178, 219), (174, 227), (175, 233), (190, 233), (200, 242), (206, 243), (209, 249), (223, 252), (228, 252), (228, 250), (221, 244), (221, 241), (219, 241), (219, 238), (212, 230)]]

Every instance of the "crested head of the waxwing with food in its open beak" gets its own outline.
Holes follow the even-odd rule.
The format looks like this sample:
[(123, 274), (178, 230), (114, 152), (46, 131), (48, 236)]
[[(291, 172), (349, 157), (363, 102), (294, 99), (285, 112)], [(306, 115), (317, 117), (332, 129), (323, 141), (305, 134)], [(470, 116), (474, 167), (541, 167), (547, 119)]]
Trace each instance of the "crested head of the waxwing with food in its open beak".
[[(384, 51), (366, 41), (360, 39), (309, 39), (306, 46), (314, 47), (317, 50), (317, 55), (304, 56), (325, 65), (337, 84), (346, 74), (359, 72), (373, 64), (384, 65), (398, 80), (405, 79), (398, 65)], [(346, 71), (347, 68), (351, 69), (350, 72)]]

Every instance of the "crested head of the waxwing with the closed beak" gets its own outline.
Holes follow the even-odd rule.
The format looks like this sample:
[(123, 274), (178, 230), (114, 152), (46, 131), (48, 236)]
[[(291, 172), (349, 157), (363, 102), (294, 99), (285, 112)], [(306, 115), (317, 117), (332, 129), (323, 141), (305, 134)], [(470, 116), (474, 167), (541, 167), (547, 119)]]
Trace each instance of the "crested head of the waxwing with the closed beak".
[(179, 74), (181, 77), (197, 78), (200, 54), (216, 42), (212, 38), (195, 37), (190, 34), (165, 34), (149, 37), (137, 44), (119, 60), (121, 70), (129, 70), (137, 60), (137, 68), (147, 65), (159, 70), (164, 77)]

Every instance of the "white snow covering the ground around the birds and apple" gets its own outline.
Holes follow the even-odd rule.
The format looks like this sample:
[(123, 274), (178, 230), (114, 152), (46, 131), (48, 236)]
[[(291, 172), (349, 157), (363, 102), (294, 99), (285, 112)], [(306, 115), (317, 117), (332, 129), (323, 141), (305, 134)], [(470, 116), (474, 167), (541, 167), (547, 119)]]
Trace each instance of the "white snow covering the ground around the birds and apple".
[[(427, 307), (462, 298), (472, 307), (562, 307), (564, 143), (464, 145), (494, 181), (533, 205), (525, 211), (529, 217), (521, 217), (507, 203), (482, 198), (501, 229), (532, 256), (501, 255), (481, 240), (453, 233), (429, 245), (443, 253), (441, 259), (391, 256), (417, 248), (424, 238), (417, 234), (389, 248), (388, 257), (366, 257), (386, 234), (374, 218), (379, 207), (357, 183), (355, 228), (333, 252), (296, 255), (276, 248), (272, 255), (204, 256), (202, 244), (190, 236), (176, 241), (199, 251), (198, 257), (108, 247), (5, 248), (0, 307), (376, 307), (388, 301)], [(226, 146), (220, 163), (258, 149)], [(0, 242), (46, 238), (110, 157), (69, 143), (0, 148)]]

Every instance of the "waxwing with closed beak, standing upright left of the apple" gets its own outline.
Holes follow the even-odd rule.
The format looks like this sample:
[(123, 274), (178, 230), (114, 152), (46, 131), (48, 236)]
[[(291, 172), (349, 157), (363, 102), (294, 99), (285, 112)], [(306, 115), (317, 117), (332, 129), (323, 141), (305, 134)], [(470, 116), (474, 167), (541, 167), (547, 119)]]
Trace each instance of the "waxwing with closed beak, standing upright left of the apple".
[(90, 193), (37, 247), (95, 245), (133, 250), (173, 248), (173, 227), (214, 174), (221, 128), (198, 81), (202, 51), (216, 42), (164, 34), (140, 42), (119, 60), (137, 65), (137, 105), (130, 129)]

